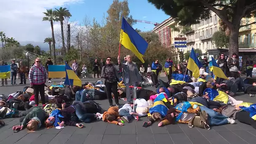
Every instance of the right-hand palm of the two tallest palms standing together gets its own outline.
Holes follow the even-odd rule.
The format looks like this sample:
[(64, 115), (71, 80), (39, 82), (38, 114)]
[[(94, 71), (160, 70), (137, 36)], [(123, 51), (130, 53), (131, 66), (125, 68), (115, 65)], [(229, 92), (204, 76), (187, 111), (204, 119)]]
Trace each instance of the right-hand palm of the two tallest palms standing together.
[[(58, 21), (61, 22), (62, 51), (64, 54), (66, 53), (66, 48), (65, 48), (65, 42), (64, 42), (63, 21), (64, 21), (64, 18), (70, 18), (72, 15), (69, 13), (69, 10), (67, 8), (60, 7), (59, 9), (55, 8), (55, 10), (56, 10), (57, 19)], [(67, 51), (69, 51), (69, 48)]]

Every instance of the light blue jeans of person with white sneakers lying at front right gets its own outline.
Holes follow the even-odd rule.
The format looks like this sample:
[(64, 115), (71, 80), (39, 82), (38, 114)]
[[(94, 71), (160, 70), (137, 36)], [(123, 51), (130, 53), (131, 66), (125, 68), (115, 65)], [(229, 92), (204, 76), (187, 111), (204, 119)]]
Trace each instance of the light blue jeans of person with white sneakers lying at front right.
[(228, 124), (228, 120), (225, 115), (215, 112), (205, 106), (199, 106), (200, 109), (208, 114), (209, 125), (225, 125)]

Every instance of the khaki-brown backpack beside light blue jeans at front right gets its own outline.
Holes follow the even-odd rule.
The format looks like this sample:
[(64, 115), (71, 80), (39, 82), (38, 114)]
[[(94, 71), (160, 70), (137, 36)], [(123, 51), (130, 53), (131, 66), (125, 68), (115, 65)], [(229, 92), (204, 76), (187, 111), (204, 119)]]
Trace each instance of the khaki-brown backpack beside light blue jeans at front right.
[(195, 115), (191, 120), (189, 120), (188, 125), (189, 128), (197, 127), (209, 130), (210, 126), (208, 124), (208, 114), (205, 111), (200, 112), (199, 116)]

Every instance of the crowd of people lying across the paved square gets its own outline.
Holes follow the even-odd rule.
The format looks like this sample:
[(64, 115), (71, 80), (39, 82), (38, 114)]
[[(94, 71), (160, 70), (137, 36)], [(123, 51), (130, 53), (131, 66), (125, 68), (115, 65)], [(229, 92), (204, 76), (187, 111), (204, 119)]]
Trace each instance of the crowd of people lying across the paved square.
[[(64, 125), (83, 127), (82, 123), (104, 121), (116, 125), (125, 125), (138, 117), (148, 117), (143, 126), (158, 121), (158, 126), (175, 123), (188, 123), (189, 127), (210, 128), (212, 125), (234, 124), (235, 119), (256, 129), (256, 104), (249, 101), (237, 101), (232, 96), (238, 92), (256, 95), (256, 83), (248, 79), (230, 78), (217, 83), (208, 82), (204, 77), (192, 78), (188, 83), (170, 85), (157, 80), (156, 92), (144, 88), (136, 91), (136, 100), (126, 101), (128, 88), (118, 83), (114, 94), (108, 98), (106, 85), (100, 80), (85, 83), (82, 87), (58, 85), (45, 86), (45, 95), (39, 97), (43, 107), (35, 104), (35, 97), (29, 87), (8, 96), (0, 95), (0, 118), (20, 117), (20, 125), (13, 126), (14, 131), (36, 131), (41, 127), (63, 127)], [(249, 84), (251, 83), (251, 84)], [(134, 97), (133, 91), (131, 98)], [(129, 98), (129, 99), (131, 99)], [(108, 99), (110, 107), (101, 109), (94, 100)], [(116, 105), (112, 104), (115, 99)], [(200, 121), (205, 123), (200, 123)], [(0, 120), (0, 125), (5, 125)]]

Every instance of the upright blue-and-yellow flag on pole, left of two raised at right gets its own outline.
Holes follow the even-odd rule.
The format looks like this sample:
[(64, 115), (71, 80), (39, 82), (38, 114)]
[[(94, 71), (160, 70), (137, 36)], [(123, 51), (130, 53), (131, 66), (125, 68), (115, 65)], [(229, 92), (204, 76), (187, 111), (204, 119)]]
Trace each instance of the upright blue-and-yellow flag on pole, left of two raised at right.
[(189, 56), (189, 62), (187, 64), (187, 69), (193, 72), (193, 77), (198, 78), (200, 76), (199, 69), (201, 67), (203, 67), (203, 64), (199, 61), (199, 59), (197, 59), (194, 48), (192, 48)]

